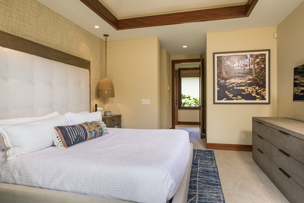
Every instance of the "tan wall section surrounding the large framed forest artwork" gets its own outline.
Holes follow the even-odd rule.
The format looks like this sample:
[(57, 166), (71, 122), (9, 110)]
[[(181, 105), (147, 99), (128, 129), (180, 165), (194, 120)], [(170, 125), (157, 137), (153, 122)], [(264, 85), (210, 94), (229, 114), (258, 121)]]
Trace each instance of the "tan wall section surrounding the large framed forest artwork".
[[(206, 136), (208, 143), (252, 145), (252, 117), (277, 116), (276, 27), (207, 33)], [(213, 53), (270, 49), (269, 105), (213, 104)], [(241, 133), (246, 139), (241, 139)]]

